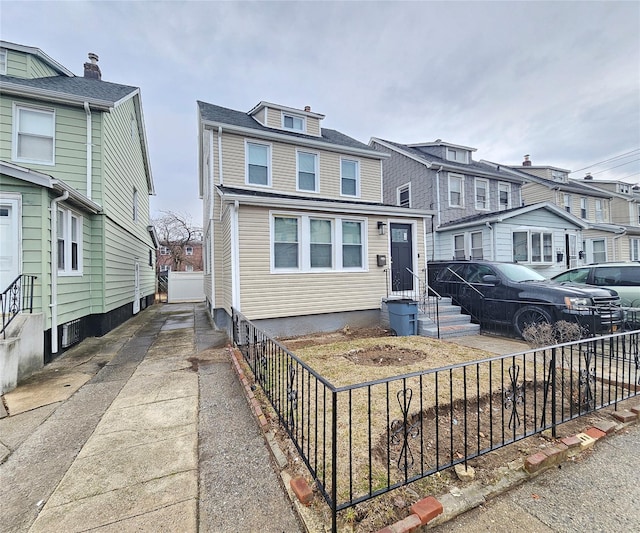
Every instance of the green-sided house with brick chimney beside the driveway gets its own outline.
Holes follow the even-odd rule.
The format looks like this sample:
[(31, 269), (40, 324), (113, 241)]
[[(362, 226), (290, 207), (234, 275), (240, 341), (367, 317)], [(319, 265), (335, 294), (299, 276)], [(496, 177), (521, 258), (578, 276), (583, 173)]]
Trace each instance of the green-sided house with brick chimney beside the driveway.
[(97, 60), (75, 76), (0, 41), (0, 292), (36, 276), (43, 362), (154, 301), (140, 89), (103, 81)]

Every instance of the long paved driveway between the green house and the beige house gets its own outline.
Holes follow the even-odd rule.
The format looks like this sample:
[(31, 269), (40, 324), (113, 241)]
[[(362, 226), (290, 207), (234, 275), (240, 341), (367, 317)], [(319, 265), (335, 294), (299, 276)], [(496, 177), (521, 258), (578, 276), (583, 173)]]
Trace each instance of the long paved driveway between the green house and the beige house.
[(225, 342), (155, 305), (6, 394), (0, 530), (300, 531)]

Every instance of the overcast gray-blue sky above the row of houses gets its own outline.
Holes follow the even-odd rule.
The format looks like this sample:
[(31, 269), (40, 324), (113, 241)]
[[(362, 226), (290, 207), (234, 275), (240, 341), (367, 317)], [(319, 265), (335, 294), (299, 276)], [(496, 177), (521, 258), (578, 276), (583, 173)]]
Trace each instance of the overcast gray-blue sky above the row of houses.
[(95, 52), (103, 80), (141, 88), (152, 215), (201, 223), (196, 100), (309, 105), (365, 143), (442, 139), (640, 182), (637, 1), (1, 0), (0, 32), (77, 75)]

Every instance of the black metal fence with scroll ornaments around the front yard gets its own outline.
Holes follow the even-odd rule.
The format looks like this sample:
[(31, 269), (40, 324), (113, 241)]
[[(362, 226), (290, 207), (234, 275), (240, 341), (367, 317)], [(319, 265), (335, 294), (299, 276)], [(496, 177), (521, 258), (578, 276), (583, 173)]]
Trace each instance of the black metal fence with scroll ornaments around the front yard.
[(337, 513), (638, 395), (640, 331), (336, 387), (233, 311), (233, 339)]

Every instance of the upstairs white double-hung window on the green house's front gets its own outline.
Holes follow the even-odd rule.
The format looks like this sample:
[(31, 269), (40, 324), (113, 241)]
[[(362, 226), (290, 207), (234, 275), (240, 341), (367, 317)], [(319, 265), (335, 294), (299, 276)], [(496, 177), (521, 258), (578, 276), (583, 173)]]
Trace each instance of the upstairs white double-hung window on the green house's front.
[(54, 111), (14, 107), (13, 159), (53, 165), (55, 146)]

